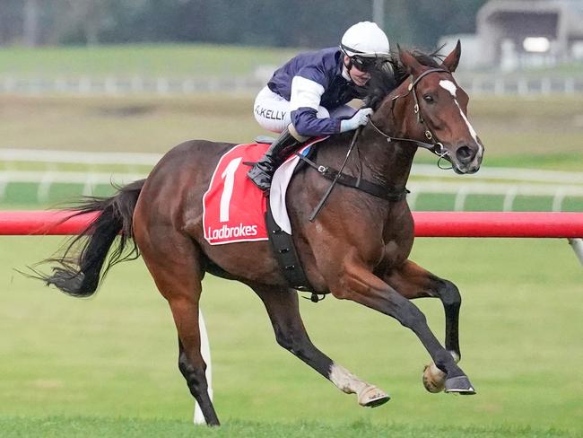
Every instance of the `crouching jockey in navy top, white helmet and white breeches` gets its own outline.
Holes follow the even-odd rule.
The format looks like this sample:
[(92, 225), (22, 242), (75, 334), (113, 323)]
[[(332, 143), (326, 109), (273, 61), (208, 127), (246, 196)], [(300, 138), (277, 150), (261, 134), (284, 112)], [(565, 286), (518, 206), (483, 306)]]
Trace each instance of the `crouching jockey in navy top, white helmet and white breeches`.
[(327, 136), (365, 125), (372, 109), (346, 105), (360, 98), (358, 87), (389, 57), (387, 35), (374, 22), (358, 22), (344, 33), (339, 48), (301, 53), (275, 70), (257, 94), (259, 125), (281, 133), (248, 171), (258, 188), (271, 186), (274, 171), (311, 136)]

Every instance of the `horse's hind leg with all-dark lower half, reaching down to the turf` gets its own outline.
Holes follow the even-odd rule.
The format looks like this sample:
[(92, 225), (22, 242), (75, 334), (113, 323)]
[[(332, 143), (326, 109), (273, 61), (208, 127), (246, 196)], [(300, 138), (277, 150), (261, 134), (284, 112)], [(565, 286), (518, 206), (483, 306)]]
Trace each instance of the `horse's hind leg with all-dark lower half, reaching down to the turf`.
[(178, 368), (187, 381), (207, 425), (219, 425), (208, 394), (206, 364), (200, 351), (198, 300), (203, 270), (200, 250), (186, 236), (169, 227), (157, 227), (141, 239), (140, 250), (160, 293), (168, 300), (178, 330)]

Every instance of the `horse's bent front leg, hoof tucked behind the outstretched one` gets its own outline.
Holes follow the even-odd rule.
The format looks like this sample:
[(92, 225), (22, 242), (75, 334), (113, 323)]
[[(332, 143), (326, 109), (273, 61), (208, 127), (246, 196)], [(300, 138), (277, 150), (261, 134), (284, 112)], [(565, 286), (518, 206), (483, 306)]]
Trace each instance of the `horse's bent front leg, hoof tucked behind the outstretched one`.
[[(398, 267), (384, 269), (383, 280), (409, 300), (435, 297), (443, 304), (446, 319), (445, 344), (448, 352), (459, 362), (458, 322), (462, 303), (457, 286), (448, 280), (434, 276), (426, 269), (406, 260)], [(423, 370), (423, 385), (430, 392), (440, 392), (445, 388), (446, 374), (431, 363)]]

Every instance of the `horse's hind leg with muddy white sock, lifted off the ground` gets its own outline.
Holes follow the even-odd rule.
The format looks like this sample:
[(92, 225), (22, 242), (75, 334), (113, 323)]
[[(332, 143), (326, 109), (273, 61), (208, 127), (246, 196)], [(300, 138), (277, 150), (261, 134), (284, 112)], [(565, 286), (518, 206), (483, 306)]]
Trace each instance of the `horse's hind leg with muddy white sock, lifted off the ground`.
[(335, 364), (312, 344), (300, 317), (298, 293), (292, 289), (277, 290), (263, 285), (251, 287), (265, 304), (280, 346), (332, 381), (338, 389), (347, 394), (356, 394), (361, 406), (377, 407), (390, 399), (383, 390)]

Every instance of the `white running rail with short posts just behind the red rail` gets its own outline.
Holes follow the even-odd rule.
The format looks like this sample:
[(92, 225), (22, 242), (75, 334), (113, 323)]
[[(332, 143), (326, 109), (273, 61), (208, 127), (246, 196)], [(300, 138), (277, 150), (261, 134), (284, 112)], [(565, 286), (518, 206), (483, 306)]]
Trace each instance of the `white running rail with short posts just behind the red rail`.
[[(158, 153), (85, 153), (77, 151), (42, 151), (0, 149), (0, 201), (9, 183), (36, 183), (39, 202), (48, 200), (56, 183), (83, 184), (83, 195), (91, 195), (97, 185), (127, 184), (146, 177), (161, 159)], [(44, 171), (22, 171), (26, 163), (44, 163)], [(57, 165), (79, 164), (87, 171), (57, 170)], [(18, 165), (17, 165), (18, 164)], [(121, 165), (131, 172), (92, 170), (98, 166)], [(38, 167), (38, 166), (37, 166)], [(503, 196), (503, 210), (511, 211), (518, 196), (552, 197), (553, 211), (561, 211), (566, 197), (583, 198), (583, 172), (542, 171), (531, 169), (484, 168), (472, 176), (443, 171), (432, 164), (414, 164), (408, 188), (414, 209), (422, 194), (453, 194), (455, 210), (462, 211), (471, 195)]]

